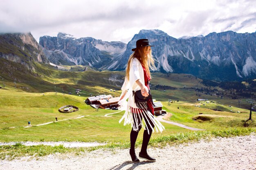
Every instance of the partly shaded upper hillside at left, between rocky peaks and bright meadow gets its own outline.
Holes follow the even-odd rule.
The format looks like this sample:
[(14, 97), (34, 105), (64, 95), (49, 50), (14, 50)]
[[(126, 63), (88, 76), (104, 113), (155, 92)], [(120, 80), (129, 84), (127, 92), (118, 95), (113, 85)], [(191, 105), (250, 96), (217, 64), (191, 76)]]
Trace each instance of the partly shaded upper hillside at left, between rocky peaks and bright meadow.
[[(109, 89), (120, 89), (122, 84), (122, 72), (107, 71), (59, 71), (53, 66), (34, 63), (35, 72), (29, 71), (20, 64), (0, 58), (0, 86), (5, 84), (6, 88), (15, 91), (26, 91), (32, 93), (58, 92), (75, 93), (81, 89), (83, 96), (107, 93)], [(118, 77), (115, 79), (115, 77)], [(121, 79), (121, 80), (120, 80)], [(16, 82), (16, 83), (14, 83)], [(106, 91), (108, 89), (108, 91)], [(112, 95), (117, 93), (109, 92)]]

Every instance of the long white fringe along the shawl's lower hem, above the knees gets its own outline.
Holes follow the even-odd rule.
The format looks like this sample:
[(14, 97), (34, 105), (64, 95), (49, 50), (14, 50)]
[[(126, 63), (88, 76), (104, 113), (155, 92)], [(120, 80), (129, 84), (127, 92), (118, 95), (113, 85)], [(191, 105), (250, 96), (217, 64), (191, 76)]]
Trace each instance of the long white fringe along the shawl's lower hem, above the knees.
[[(131, 127), (137, 131), (139, 130), (139, 126), (141, 122), (141, 126), (142, 128), (144, 128), (144, 130), (148, 131), (149, 134), (149, 129), (152, 129), (152, 132), (154, 133), (156, 132), (162, 132), (165, 128), (164, 126), (160, 123), (159, 120), (155, 119), (155, 116), (152, 115), (152, 113), (150, 113), (148, 110), (144, 110), (144, 109), (138, 109), (139, 113), (135, 113), (135, 111), (132, 111), (131, 109), (133, 109), (130, 106), (127, 106), (127, 110), (124, 113), (123, 117), (119, 120), (119, 123), (121, 123), (121, 121), (124, 119), (124, 126), (126, 124), (131, 124)], [(135, 117), (136, 119), (134, 120), (133, 117)], [(143, 119), (144, 118), (144, 119)], [(142, 122), (142, 119), (144, 120), (144, 123)], [(139, 121), (138, 121), (139, 120)], [(148, 122), (146, 124), (146, 121)], [(155, 130), (154, 128), (151, 126), (150, 122), (152, 122), (155, 126)], [(144, 125), (145, 124), (145, 125)], [(149, 125), (149, 127), (148, 127)]]

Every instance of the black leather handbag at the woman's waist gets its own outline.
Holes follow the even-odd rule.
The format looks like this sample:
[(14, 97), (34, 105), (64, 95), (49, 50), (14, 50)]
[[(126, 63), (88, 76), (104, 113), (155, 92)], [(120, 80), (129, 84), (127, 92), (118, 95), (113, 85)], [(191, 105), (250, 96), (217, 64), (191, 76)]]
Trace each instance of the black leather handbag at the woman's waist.
[(140, 108), (140, 109), (148, 109), (148, 105), (147, 105), (147, 102), (148, 100), (150, 100), (150, 103), (154, 105), (153, 103), (153, 99), (152, 99), (152, 95), (150, 93), (150, 91), (148, 91), (148, 96), (147, 97), (144, 97), (142, 94), (141, 94), (141, 90), (139, 91), (132, 91), (133, 95), (134, 95), (134, 100), (135, 100), (135, 104), (137, 106), (137, 108)]

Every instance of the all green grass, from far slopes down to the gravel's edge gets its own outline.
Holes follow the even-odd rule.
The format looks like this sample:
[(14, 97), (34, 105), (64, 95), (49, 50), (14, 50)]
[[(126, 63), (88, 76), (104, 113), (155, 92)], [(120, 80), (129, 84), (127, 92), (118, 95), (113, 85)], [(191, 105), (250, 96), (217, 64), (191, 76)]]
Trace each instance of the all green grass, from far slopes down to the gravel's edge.
[[(16, 82), (16, 88), (15, 83), (6, 77), (4, 82), (0, 82), (0, 84), (5, 84), (5, 87), (0, 89), (0, 142), (97, 141), (106, 143), (106, 145), (92, 148), (65, 148), (62, 145), (25, 146), (16, 143), (13, 146), (0, 146), (0, 159), (44, 156), (57, 152), (79, 155), (86, 150), (99, 148), (129, 148), (131, 127), (118, 122), (124, 111), (119, 113), (116, 113), (119, 110), (99, 109), (96, 111), (84, 102), (90, 95), (119, 96), (122, 83), (115, 79), (123, 77), (123, 72), (57, 71), (51, 68), (46, 70), (43, 65), (38, 65), (38, 69), (40, 78), (30, 74), (20, 77)], [(23, 76), (19, 72), (14, 74)], [(0, 75), (6, 76), (2, 73)], [(238, 100), (225, 97), (220, 99), (216, 95), (211, 96), (184, 89), (184, 86), (201, 88), (203, 85), (200, 81), (189, 75), (153, 73), (152, 85), (161, 84), (176, 88), (166, 91), (151, 90), (153, 98), (161, 101), (163, 109), (171, 114), (171, 117), (166, 119), (193, 128), (204, 129), (204, 131), (193, 131), (162, 123), (165, 130), (152, 135), (150, 146), (162, 147), (166, 144), (176, 145), (211, 137), (232, 137), (256, 132), (255, 112), (252, 114), (253, 121), (249, 122), (249, 127), (244, 127), (244, 121), (249, 118), (249, 110), (245, 109), (249, 106), (246, 99), (240, 99), (238, 103)], [(76, 88), (81, 89), (79, 94), (74, 93)], [(110, 89), (116, 91), (110, 91)], [(72, 95), (68, 95), (68, 92), (72, 92)], [(199, 98), (197, 94), (201, 99), (208, 99), (212, 102), (196, 101)], [(168, 104), (168, 99), (171, 99), (173, 103)], [(77, 106), (79, 111), (59, 113), (58, 108), (65, 105)], [(240, 113), (237, 113), (238, 111)], [(104, 115), (108, 113), (115, 114), (105, 117)], [(55, 117), (58, 117), (57, 122), (53, 122), (56, 121)], [(81, 118), (74, 119), (77, 117)], [(28, 121), (31, 121), (32, 127), (25, 128)], [(48, 122), (53, 123), (36, 126)], [(141, 130), (136, 142), (137, 147), (141, 145), (142, 139)]]

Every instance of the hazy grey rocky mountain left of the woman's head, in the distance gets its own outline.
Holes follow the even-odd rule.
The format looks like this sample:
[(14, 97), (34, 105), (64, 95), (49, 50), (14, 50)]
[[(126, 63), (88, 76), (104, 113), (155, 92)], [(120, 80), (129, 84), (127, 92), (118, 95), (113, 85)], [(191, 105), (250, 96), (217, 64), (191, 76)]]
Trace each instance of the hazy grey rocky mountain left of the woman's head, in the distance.
[(50, 62), (62, 65), (89, 65), (99, 69), (116, 68), (116, 58), (126, 50), (123, 42), (104, 42), (94, 38), (74, 38), (58, 33), (57, 37), (40, 37), (39, 44)]

